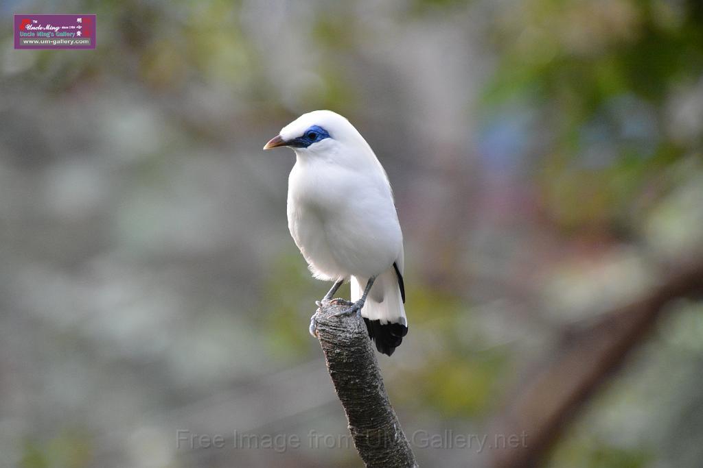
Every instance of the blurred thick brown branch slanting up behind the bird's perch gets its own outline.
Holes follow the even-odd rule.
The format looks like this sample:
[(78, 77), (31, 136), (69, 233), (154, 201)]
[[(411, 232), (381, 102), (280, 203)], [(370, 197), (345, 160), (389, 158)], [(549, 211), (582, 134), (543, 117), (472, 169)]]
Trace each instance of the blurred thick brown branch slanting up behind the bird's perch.
[(512, 394), (494, 434), (526, 434), (525, 444), (496, 447), (494, 468), (537, 467), (577, 410), (610, 377), (672, 300), (703, 294), (703, 262), (666, 276), (640, 299), (569, 333), (554, 357)]

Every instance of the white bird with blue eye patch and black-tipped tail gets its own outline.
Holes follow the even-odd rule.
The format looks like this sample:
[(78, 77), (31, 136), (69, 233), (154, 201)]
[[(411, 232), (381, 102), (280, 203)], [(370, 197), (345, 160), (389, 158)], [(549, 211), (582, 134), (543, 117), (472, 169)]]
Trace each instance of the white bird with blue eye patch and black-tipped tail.
[[(388, 177), (361, 133), (340, 114), (317, 110), (281, 129), (264, 149), (293, 149), (288, 229), (317, 279), (334, 281), (323, 301), (351, 280), (352, 301), (379, 352), (390, 356), (408, 333), (403, 234)], [(316, 335), (316, 315), (310, 332)]]

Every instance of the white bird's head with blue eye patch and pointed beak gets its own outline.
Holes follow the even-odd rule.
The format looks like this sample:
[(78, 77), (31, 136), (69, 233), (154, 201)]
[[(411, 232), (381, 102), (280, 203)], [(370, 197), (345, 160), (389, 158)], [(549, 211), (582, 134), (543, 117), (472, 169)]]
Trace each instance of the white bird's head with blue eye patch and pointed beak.
[(287, 146), (297, 153), (321, 152), (356, 138), (361, 138), (361, 135), (340, 114), (316, 110), (288, 123), (266, 143), (264, 149)]

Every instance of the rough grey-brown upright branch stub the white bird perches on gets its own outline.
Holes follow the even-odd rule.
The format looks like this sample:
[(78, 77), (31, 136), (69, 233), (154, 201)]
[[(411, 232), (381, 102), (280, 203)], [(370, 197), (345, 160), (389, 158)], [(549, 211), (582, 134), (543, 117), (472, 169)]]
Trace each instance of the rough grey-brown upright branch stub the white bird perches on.
[(383, 386), (366, 324), (356, 314), (330, 316), (345, 307), (325, 302), (317, 333), (354, 446), (368, 468), (417, 467)]

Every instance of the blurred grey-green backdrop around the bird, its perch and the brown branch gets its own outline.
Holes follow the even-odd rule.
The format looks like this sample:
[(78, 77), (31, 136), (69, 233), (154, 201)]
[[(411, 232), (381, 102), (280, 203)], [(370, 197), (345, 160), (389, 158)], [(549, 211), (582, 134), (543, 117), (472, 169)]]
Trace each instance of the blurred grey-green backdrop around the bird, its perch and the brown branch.
[[(0, 467), (361, 465), (307, 332), (330, 285), (288, 234), (294, 155), (262, 152), (313, 109), (394, 187), (410, 331), (379, 361), (418, 461), (496, 466), (423, 434), (490, 443), (569, 337), (703, 254), (702, 5), (4, 0)], [(98, 47), (15, 51), (14, 13), (96, 13)], [(703, 306), (673, 299), (541, 466), (700, 466)]]

